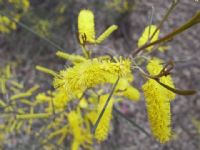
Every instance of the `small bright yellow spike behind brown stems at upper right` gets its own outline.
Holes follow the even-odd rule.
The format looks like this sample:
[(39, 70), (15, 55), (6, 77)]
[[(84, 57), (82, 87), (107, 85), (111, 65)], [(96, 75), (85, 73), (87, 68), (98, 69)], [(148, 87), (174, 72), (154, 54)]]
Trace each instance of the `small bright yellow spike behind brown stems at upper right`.
[[(145, 45), (148, 42), (149, 38), (151, 38), (151, 36), (153, 35), (156, 29), (157, 27), (155, 25), (147, 26), (138, 40), (138, 47), (142, 47), (143, 45)], [(156, 34), (153, 36), (153, 38), (149, 42), (156, 41), (158, 39), (159, 33), (160, 33), (160, 30), (156, 32)], [(147, 51), (151, 52), (152, 49), (153, 49), (153, 46), (150, 46), (147, 48)]]

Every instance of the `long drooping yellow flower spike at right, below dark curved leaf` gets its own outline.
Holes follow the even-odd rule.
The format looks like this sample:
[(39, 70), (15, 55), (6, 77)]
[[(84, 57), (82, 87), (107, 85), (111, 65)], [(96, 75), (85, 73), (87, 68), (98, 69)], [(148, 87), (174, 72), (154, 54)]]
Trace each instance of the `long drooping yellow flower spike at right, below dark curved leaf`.
[(171, 112), (169, 99), (156, 89), (155, 81), (149, 80), (142, 86), (144, 91), (148, 120), (154, 137), (161, 143), (171, 138)]

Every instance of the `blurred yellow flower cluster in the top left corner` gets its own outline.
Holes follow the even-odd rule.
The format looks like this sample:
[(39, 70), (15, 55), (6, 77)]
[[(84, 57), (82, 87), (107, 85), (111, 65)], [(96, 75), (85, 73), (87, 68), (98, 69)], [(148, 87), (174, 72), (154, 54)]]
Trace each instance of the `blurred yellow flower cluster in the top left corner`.
[(30, 2), (29, 0), (8, 0), (7, 2), (0, 1), (0, 5), (3, 8), (11, 8), (11, 11), (8, 11), (8, 9), (3, 10), (8, 16), (0, 14), (0, 33), (10, 33), (12, 30), (16, 30), (16, 22), (27, 12), (30, 7)]

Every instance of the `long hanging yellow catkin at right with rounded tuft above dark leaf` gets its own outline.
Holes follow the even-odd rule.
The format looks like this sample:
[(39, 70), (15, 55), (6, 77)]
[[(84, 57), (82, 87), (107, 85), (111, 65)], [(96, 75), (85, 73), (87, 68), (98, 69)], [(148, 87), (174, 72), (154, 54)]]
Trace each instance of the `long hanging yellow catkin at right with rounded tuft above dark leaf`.
[[(150, 75), (157, 75), (162, 70), (161, 60), (153, 59), (147, 65)], [(161, 77), (161, 82), (173, 87), (170, 76)], [(144, 96), (148, 112), (148, 120), (154, 137), (161, 143), (171, 138), (171, 112), (170, 101), (175, 94), (159, 85), (156, 81), (149, 79), (143, 86)]]

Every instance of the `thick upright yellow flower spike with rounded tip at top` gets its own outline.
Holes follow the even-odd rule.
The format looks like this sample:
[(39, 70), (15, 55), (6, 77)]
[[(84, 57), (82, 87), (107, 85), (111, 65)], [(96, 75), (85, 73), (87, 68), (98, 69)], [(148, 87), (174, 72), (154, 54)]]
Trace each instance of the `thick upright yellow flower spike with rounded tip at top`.
[(95, 43), (94, 14), (90, 10), (83, 9), (78, 16), (78, 32), (80, 44), (85, 42)]

